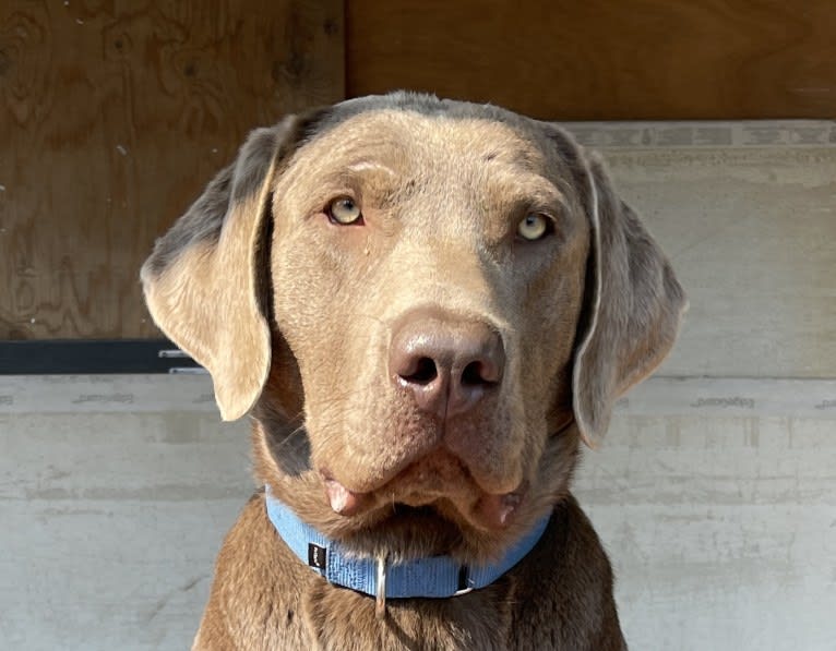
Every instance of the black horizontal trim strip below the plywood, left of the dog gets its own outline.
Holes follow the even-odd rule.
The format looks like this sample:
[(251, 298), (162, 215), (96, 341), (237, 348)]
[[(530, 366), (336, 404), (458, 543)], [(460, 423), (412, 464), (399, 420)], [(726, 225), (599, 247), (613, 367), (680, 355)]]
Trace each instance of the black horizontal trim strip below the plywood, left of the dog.
[(200, 366), (167, 339), (0, 341), (0, 375), (174, 373), (178, 369)]

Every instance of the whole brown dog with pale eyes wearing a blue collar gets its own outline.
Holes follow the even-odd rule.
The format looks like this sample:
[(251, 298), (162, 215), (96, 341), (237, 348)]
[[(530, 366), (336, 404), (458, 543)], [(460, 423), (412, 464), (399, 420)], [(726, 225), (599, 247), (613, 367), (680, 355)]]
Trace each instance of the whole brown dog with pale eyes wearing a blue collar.
[(685, 298), (599, 157), (395, 93), (253, 131), (142, 269), (260, 486), (194, 649), (625, 649), (570, 492)]

